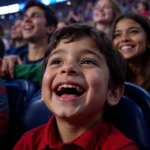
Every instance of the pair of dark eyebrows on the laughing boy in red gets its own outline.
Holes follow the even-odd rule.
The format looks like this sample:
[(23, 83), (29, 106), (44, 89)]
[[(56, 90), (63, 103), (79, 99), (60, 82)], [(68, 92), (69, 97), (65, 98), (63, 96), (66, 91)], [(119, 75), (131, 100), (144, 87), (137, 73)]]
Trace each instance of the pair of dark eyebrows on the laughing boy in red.
[[(53, 51), (50, 54), (50, 57), (52, 57), (53, 55), (56, 55), (56, 54), (64, 54), (64, 53), (66, 53), (65, 49), (57, 49), (56, 51)], [(82, 49), (80, 54), (81, 55), (82, 54), (92, 54), (92, 55), (98, 57), (98, 59), (102, 60), (102, 57), (97, 50)]]

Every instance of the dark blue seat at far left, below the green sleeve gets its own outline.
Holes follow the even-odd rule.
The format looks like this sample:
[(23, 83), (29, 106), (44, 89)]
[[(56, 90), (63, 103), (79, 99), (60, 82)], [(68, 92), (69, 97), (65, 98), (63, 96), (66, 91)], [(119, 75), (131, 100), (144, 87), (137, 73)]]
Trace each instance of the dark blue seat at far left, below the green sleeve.
[[(9, 103), (8, 133), (4, 139), (5, 149), (11, 149), (22, 134), (21, 118), (36, 88), (30, 81), (12, 80), (5, 83)], [(6, 144), (9, 141), (9, 145)]]

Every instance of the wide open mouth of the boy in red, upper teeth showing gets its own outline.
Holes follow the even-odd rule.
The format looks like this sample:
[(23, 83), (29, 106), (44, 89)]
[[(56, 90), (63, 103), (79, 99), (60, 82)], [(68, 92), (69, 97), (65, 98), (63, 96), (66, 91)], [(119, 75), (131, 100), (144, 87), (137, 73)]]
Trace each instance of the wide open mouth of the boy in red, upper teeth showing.
[(79, 85), (61, 84), (55, 88), (55, 93), (59, 97), (63, 95), (74, 95), (79, 97), (85, 93), (85, 90)]

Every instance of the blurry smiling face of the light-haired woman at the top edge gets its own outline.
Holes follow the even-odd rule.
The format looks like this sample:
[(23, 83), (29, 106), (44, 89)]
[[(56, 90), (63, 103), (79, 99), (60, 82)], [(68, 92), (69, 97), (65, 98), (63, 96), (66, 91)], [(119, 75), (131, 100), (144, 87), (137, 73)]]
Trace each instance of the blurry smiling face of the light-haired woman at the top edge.
[(100, 0), (95, 5), (93, 11), (93, 21), (95, 23), (112, 22), (113, 20), (113, 8), (109, 0)]

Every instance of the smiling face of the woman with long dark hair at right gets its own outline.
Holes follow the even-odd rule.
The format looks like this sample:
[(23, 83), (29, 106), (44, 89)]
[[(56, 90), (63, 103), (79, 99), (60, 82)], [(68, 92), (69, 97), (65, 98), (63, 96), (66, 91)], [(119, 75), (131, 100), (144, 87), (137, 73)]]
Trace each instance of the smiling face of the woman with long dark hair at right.
[(123, 18), (116, 24), (113, 45), (125, 59), (133, 59), (145, 53), (147, 35), (140, 24), (132, 19)]

